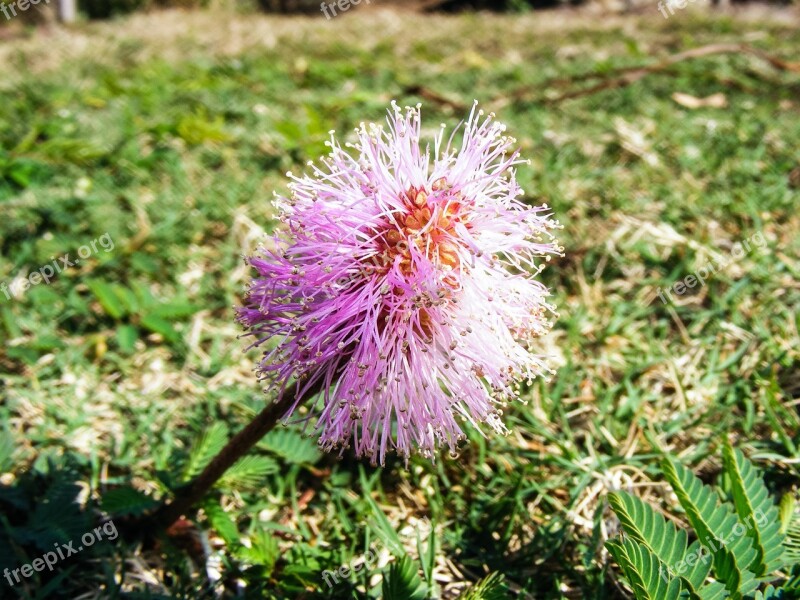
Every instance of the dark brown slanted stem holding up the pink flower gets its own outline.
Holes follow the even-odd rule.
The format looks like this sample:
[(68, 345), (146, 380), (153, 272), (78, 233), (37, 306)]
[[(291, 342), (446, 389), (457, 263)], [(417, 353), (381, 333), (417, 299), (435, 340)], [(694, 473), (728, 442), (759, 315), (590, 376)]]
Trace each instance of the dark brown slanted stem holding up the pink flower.
[[(312, 386), (300, 401), (307, 400), (318, 391), (318, 385)], [(219, 478), (225, 474), (225, 471), (242, 458), (261, 438), (272, 431), (278, 421), (286, 416), (294, 404), (294, 400), (294, 394), (287, 389), (277, 400), (267, 405), (255, 419), (231, 438), (196, 479), (176, 491), (172, 502), (162, 505), (146, 517), (145, 521), (151, 527), (163, 530), (188, 513), (195, 504), (203, 499)]]

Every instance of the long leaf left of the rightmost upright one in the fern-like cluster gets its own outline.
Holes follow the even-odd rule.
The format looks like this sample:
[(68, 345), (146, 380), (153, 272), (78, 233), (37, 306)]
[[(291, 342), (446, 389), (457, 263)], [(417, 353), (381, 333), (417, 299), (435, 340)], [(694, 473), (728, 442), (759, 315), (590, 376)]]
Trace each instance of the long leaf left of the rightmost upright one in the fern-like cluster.
[(734, 598), (753, 592), (758, 582), (749, 567), (757, 555), (750, 538), (743, 531), (737, 535), (743, 526), (732, 507), (676, 461), (665, 458), (662, 470), (701, 544), (711, 551), (716, 579)]

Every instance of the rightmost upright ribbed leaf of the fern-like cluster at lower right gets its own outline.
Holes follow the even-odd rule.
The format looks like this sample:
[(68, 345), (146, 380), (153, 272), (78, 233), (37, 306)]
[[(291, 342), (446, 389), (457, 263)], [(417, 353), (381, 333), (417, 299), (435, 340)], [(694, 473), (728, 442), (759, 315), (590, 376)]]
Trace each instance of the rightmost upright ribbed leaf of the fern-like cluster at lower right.
[(753, 464), (740, 450), (726, 443), (722, 449), (723, 468), (731, 481), (733, 505), (744, 534), (753, 542), (756, 560), (750, 569), (757, 577), (772, 573), (783, 564), (783, 534), (778, 511), (767, 486)]

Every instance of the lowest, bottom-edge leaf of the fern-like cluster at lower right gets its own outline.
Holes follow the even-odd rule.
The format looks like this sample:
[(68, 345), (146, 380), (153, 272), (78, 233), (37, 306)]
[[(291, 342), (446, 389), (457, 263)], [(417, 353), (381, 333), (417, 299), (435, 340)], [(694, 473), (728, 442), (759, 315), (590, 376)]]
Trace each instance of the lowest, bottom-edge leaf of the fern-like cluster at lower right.
[(632, 538), (608, 540), (608, 549), (631, 586), (636, 600), (679, 600), (681, 583), (644, 544)]

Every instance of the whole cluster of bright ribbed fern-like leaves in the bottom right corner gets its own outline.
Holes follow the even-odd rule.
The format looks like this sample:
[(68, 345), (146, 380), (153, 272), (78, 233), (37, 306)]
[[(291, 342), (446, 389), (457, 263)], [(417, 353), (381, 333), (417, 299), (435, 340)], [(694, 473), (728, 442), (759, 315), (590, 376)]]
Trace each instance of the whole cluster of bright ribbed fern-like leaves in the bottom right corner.
[[(611, 494), (625, 535), (606, 547), (636, 599), (779, 597), (770, 588), (762, 596), (758, 588), (784, 566), (790, 546), (778, 510), (744, 454), (728, 444), (723, 448), (727, 500), (671, 458), (662, 461), (662, 472), (697, 539), (688, 545), (688, 533), (647, 503), (627, 492)], [(711, 573), (714, 580), (707, 581)]]

